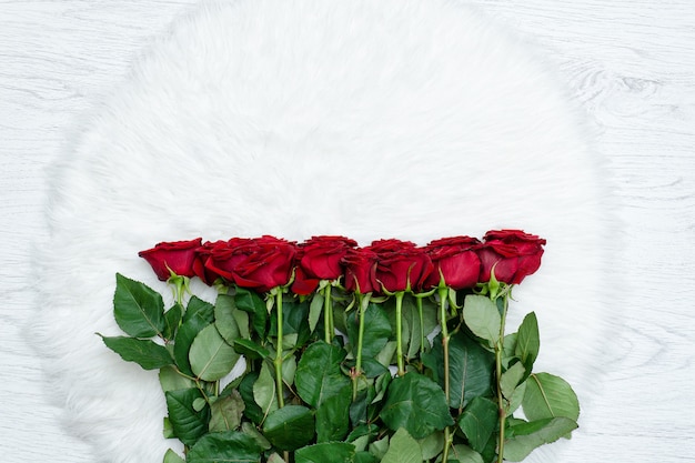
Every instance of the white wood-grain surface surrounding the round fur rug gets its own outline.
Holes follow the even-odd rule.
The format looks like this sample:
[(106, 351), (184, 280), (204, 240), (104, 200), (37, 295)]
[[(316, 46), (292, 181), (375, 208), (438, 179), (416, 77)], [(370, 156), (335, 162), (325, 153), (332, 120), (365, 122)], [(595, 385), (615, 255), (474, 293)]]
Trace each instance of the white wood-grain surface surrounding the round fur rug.
[[(625, 329), (572, 462), (695, 461), (695, 3), (462, 0), (556, 63), (598, 131), (624, 233)], [(0, 460), (92, 462), (26, 344), (43, 168), (197, 0), (0, 0)]]

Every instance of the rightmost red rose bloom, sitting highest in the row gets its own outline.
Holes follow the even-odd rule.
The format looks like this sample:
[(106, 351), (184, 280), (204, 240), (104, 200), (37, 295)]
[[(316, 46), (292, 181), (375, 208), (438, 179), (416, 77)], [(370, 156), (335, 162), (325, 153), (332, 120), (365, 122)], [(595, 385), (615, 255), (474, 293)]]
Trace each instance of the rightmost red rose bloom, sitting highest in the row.
[(518, 284), (541, 266), (545, 240), (521, 230), (488, 231), (485, 242), (477, 250), (481, 259), (481, 282), (490, 281), (490, 272), (495, 265), (498, 281)]

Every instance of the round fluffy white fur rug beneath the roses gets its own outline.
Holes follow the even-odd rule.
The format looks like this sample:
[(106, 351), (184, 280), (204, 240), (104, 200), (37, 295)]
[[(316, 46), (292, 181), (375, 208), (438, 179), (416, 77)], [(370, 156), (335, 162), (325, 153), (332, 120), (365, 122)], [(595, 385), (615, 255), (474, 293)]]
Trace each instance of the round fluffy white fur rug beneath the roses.
[[(581, 455), (610, 323), (613, 229), (601, 165), (542, 59), (445, 0), (241, 0), (178, 21), (50, 172), (37, 262), (37, 345), (51, 393), (94, 460), (160, 462), (157, 374), (119, 334), (114, 273), (167, 291), (140, 250), (159, 241), (344, 234), (362, 244), (522, 228), (547, 239), (510, 326), (538, 313), (540, 371), (580, 394)], [(573, 461), (581, 461), (575, 459)]]

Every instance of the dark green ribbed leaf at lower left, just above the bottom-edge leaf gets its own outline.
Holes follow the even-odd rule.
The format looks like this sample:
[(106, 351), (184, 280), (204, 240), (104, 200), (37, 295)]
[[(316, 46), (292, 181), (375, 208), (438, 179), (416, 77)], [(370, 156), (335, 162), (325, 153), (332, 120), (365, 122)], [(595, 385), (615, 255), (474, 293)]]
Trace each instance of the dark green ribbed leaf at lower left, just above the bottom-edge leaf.
[(208, 421), (210, 410), (204, 409), (197, 412), (193, 402), (203, 399), (198, 387), (169, 391), (164, 393), (167, 397), (167, 410), (169, 421), (174, 434), (185, 445), (193, 445), (199, 437), (208, 432)]

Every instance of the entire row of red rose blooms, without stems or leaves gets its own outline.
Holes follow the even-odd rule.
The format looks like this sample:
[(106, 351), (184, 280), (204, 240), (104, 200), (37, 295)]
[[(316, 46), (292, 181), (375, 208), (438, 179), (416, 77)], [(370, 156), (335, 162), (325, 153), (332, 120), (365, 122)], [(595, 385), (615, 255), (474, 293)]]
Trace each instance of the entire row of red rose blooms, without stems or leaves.
[(541, 265), (545, 240), (521, 230), (496, 230), (483, 240), (452, 236), (425, 246), (395, 239), (357, 246), (344, 236), (314, 236), (302, 243), (275, 236), (228, 241), (162, 242), (139, 255), (158, 278), (172, 273), (198, 276), (211, 285), (219, 279), (268, 292), (290, 283), (295, 294), (313, 293), (321, 280), (343, 279), (348, 291), (381, 294), (429, 291), (444, 283), (454, 290), (490, 281), (518, 284)]

